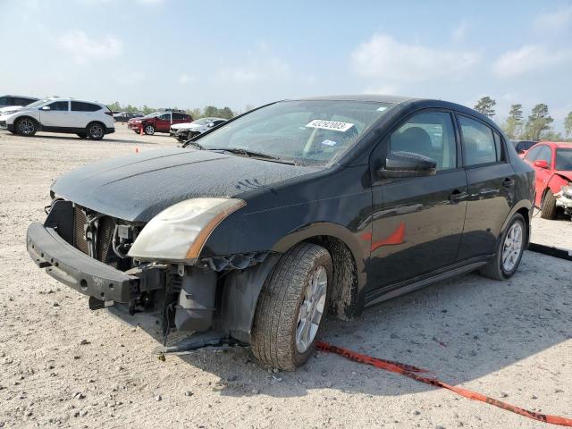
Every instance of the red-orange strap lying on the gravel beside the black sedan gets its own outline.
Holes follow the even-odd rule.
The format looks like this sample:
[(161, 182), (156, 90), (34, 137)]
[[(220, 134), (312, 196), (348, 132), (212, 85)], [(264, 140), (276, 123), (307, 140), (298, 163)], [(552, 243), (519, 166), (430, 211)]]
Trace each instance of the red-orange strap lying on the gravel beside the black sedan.
[(359, 364), (375, 366), (376, 368), (384, 369), (385, 371), (390, 371), (391, 373), (405, 375), (406, 377), (412, 378), (417, 382), (430, 384), (435, 387), (441, 387), (443, 389), (454, 391), (458, 395), (463, 396), (469, 400), (480, 400), (481, 402), (486, 402), (487, 404), (493, 405), (494, 407), (506, 409), (507, 411), (519, 414), (520, 416), (538, 420), (539, 422), (572, 427), (572, 419), (570, 418), (534, 413), (533, 411), (529, 411), (525, 408), (519, 408), (508, 404), (507, 402), (489, 398), (488, 396), (484, 396), (481, 393), (477, 393), (475, 391), (467, 391), (467, 389), (463, 389), (461, 387), (451, 386), (450, 384), (443, 383), (441, 380), (437, 380), (436, 378), (420, 375), (423, 373), (428, 373), (428, 371), (425, 369), (417, 368), (416, 366), (405, 365), (391, 360), (378, 359), (377, 357), (362, 355), (349, 349), (332, 346), (331, 344), (323, 341), (317, 342), (315, 346), (321, 351), (335, 353), (336, 355), (340, 355)]

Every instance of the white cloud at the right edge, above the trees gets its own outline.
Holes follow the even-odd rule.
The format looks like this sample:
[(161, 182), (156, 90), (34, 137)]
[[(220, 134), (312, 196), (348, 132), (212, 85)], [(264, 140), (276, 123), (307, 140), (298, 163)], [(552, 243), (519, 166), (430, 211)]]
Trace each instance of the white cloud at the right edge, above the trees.
[(492, 64), (492, 71), (500, 78), (512, 78), (571, 62), (570, 48), (555, 49), (544, 45), (525, 45), (498, 57)]

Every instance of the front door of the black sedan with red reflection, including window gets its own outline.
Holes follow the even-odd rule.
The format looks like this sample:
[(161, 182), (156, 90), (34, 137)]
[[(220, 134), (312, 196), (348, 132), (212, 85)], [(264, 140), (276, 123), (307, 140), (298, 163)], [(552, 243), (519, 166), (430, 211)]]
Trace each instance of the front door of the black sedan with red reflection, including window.
[[(437, 172), (379, 179), (376, 170), (396, 151), (432, 158)], [(394, 283), (456, 262), (467, 208), (467, 175), (460, 164), (458, 132), (449, 111), (413, 114), (374, 150), (372, 290), (390, 290)]]

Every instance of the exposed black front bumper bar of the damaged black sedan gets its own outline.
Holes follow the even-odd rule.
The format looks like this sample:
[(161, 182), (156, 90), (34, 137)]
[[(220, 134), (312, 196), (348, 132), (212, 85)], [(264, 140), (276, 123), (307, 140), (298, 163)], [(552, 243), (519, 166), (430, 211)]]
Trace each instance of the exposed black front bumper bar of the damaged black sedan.
[(63, 240), (53, 228), (31, 223), (26, 246), (36, 265), (84, 295), (124, 303), (139, 296), (138, 277), (88, 257)]

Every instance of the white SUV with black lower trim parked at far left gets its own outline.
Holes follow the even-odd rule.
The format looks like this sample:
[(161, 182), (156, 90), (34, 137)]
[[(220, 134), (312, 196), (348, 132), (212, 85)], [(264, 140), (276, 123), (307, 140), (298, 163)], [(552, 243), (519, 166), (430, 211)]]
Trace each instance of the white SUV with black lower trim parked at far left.
[(72, 98), (46, 98), (25, 107), (3, 109), (0, 129), (21, 136), (37, 131), (69, 132), (81, 139), (101, 140), (115, 131), (114, 116), (106, 105)]

